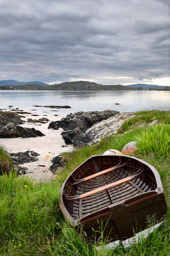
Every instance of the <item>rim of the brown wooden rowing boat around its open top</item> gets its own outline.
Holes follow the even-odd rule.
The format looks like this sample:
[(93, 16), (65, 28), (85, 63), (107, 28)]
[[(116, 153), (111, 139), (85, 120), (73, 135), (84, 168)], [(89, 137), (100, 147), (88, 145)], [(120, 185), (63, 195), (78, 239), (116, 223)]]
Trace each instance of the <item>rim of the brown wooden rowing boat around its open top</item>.
[[(59, 197), (59, 207), (60, 207), (60, 210), (61, 210), (62, 213), (64, 214), (65, 218), (66, 218), (68, 221), (70, 221), (70, 222), (73, 224), (74, 227), (75, 227), (76, 225), (78, 225), (78, 223), (81, 222), (81, 219), (87, 218), (88, 216), (89, 216), (89, 218), (90, 218), (90, 215), (94, 214), (95, 212), (97, 213), (98, 211), (101, 211), (101, 210), (104, 211), (104, 209), (110, 209), (110, 207), (114, 207), (114, 204), (115, 204), (115, 205), (122, 204), (122, 202), (125, 202), (125, 201), (127, 201), (127, 200), (130, 200), (131, 198), (132, 198), (132, 199), (138, 198), (138, 196), (139, 196), (139, 195), (134, 195), (134, 196), (132, 196), (131, 198), (127, 198), (127, 199), (125, 199), (125, 200), (120, 200), (119, 202), (115, 202), (114, 204), (111, 204), (111, 205), (109, 205), (109, 206), (103, 207), (103, 209), (99, 209), (99, 210), (97, 210), (97, 211), (94, 211), (94, 212), (92, 212), (92, 213), (89, 213), (89, 214), (83, 216), (83, 218), (80, 218), (80, 219), (78, 219), (78, 220), (74, 220), (74, 219), (72, 218), (72, 216), (69, 214), (69, 212), (67, 211), (67, 209), (66, 209), (66, 207), (65, 207), (65, 205), (64, 205), (64, 202), (63, 202), (63, 200), (62, 200), (63, 189), (64, 189), (64, 186), (65, 186), (67, 180), (71, 177), (71, 175), (73, 175), (73, 173), (76, 172), (76, 170), (78, 170), (78, 168), (80, 168), (81, 165), (83, 165), (83, 164), (84, 164), (85, 162), (87, 162), (89, 159), (94, 158), (94, 157), (106, 157), (106, 156), (103, 156), (103, 155), (94, 155), (94, 156), (90, 156), (88, 159), (86, 159), (85, 161), (83, 161), (83, 163), (81, 163), (76, 169), (74, 169), (73, 172), (71, 172), (71, 173), (68, 175), (68, 177), (66, 178), (66, 180), (64, 180), (64, 182), (63, 182), (63, 184), (62, 184), (62, 186), (61, 186), (61, 188), (60, 188), (60, 197)], [(140, 163), (145, 164), (148, 168), (150, 168), (150, 170), (152, 171), (153, 175), (155, 176), (155, 182), (156, 182), (156, 184), (157, 184), (157, 188), (156, 188), (155, 190), (151, 190), (151, 191), (149, 191), (149, 192), (143, 192), (143, 193), (141, 193), (140, 196), (143, 195), (143, 200), (145, 200), (145, 195), (146, 195), (147, 193), (153, 193), (153, 192), (155, 192), (155, 195), (156, 195), (156, 193), (157, 193), (157, 195), (160, 194), (160, 193), (164, 193), (164, 189), (163, 189), (163, 186), (162, 186), (162, 182), (161, 182), (161, 179), (160, 179), (159, 172), (158, 172), (158, 171), (155, 169), (155, 167), (153, 167), (151, 164), (148, 164), (148, 163), (146, 163), (145, 161), (143, 161), (143, 160), (141, 160), (141, 159), (139, 159), (139, 158), (137, 158), (137, 157), (132, 157), (132, 156), (113, 155), (113, 157), (121, 157), (121, 158), (127, 158), (127, 159), (129, 159), (129, 158), (130, 158), (130, 159), (134, 159), (134, 160), (136, 160), (136, 161), (139, 161)]]

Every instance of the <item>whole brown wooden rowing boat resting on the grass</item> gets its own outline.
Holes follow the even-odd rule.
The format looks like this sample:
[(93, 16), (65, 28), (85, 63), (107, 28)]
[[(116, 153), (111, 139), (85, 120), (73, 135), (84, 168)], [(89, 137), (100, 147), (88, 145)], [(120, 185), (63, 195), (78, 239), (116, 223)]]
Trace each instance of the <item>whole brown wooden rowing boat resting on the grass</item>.
[(157, 221), (167, 210), (159, 173), (130, 156), (92, 156), (80, 164), (60, 189), (59, 206), (74, 227), (88, 237), (127, 239), (144, 230), (148, 217)]

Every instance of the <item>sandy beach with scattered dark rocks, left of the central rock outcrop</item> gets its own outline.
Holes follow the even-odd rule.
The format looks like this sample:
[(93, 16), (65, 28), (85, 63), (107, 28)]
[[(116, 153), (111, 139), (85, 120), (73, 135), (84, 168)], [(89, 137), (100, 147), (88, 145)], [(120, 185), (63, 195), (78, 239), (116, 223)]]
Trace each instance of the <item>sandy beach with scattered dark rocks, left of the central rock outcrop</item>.
[(60, 120), (60, 116), (53, 115), (52, 110), (48, 116), (39, 116), (9, 108), (0, 111), (0, 146), (10, 154), (17, 175), (24, 174), (38, 181), (55, 179), (56, 164), (60, 166), (56, 157), (73, 148), (62, 140), (62, 129), (48, 129), (49, 123)]

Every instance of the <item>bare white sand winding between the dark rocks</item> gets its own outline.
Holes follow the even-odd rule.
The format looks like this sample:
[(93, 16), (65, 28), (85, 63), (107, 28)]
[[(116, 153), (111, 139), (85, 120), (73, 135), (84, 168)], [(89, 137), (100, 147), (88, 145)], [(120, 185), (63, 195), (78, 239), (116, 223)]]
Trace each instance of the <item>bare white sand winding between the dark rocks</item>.
[[(22, 114), (22, 113), (21, 113)], [(23, 120), (27, 120), (27, 118), (39, 119), (42, 117), (48, 118), (50, 121), (46, 124), (32, 124), (25, 123), (20, 125), (22, 127), (34, 127), (36, 130), (39, 130), (45, 134), (43, 137), (36, 138), (5, 138), (0, 139), (0, 145), (3, 145), (6, 148), (7, 152), (17, 153), (17, 152), (25, 152), (27, 150), (33, 150), (38, 153), (38, 161), (25, 163), (20, 166), (27, 167), (27, 176), (32, 177), (37, 181), (44, 181), (54, 179), (55, 176), (52, 172), (50, 172), (49, 167), (52, 165), (50, 161), (53, 157), (58, 156), (62, 152), (69, 152), (73, 150), (72, 146), (62, 147), (62, 145), (66, 145), (62, 136), (60, 135), (63, 131), (61, 128), (59, 130), (48, 129), (48, 125), (51, 121), (60, 120), (60, 116), (31, 116), (25, 115), (26, 118), (22, 118)], [(45, 165), (39, 166), (39, 165)]]

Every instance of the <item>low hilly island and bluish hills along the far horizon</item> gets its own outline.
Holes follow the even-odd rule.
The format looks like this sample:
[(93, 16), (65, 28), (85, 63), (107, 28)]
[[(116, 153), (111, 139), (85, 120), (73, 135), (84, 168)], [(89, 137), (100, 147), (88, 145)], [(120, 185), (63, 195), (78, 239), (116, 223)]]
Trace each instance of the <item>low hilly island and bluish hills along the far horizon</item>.
[[(6, 81), (6, 82), (5, 82)], [(10, 82), (11, 81), (11, 82)], [(5, 84), (6, 83), (6, 84)], [(18, 84), (16, 84), (18, 83)], [(130, 84), (125, 86), (122, 84), (97, 84), (89, 81), (74, 81), (60, 84), (45, 84), (39, 81), (33, 82), (18, 82), (15, 80), (0, 81), (0, 90), (159, 90), (169, 91), (170, 86), (159, 86), (154, 84)]]

